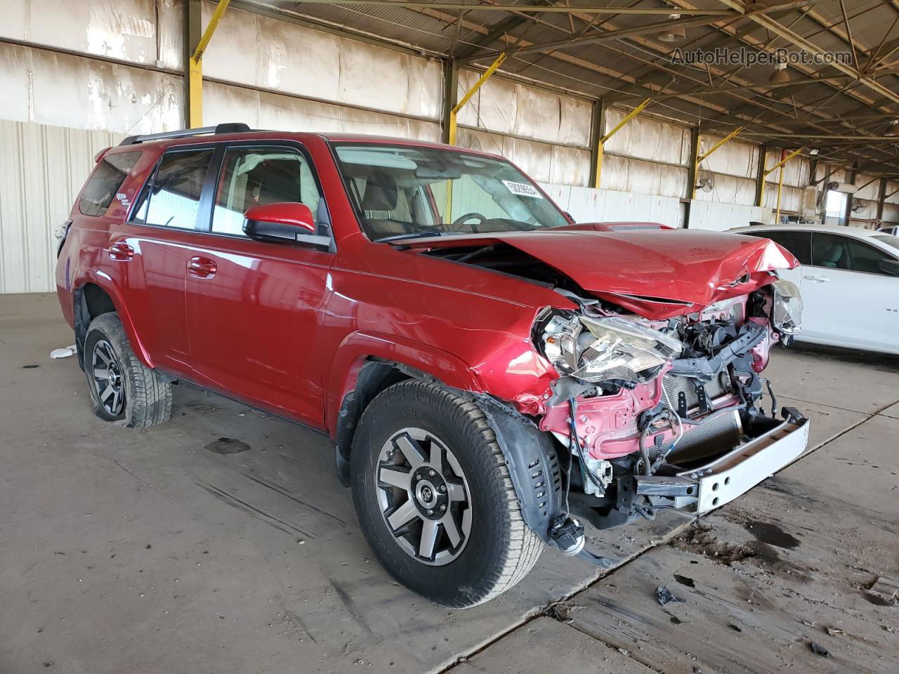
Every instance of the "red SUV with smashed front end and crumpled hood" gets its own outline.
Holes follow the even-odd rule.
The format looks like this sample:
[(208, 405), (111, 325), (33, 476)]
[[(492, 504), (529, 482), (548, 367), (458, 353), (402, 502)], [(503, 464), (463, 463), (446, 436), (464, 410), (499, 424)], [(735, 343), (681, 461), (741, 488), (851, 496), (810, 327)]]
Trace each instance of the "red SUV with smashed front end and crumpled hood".
[(770, 392), (799, 328), (767, 239), (575, 224), (502, 157), (243, 124), (96, 157), (59, 247), (94, 411), (187, 380), (325, 430), (365, 537), (451, 607), (583, 525), (699, 513), (797, 457)]

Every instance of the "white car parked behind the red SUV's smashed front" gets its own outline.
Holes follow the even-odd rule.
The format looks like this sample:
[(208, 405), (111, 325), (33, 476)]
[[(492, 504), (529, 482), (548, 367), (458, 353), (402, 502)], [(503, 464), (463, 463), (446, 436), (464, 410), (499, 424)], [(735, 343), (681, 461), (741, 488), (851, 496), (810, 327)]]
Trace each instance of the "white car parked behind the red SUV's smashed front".
[(849, 226), (737, 227), (796, 255), (800, 266), (779, 270), (802, 293), (797, 341), (899, 353), (899, 236)]

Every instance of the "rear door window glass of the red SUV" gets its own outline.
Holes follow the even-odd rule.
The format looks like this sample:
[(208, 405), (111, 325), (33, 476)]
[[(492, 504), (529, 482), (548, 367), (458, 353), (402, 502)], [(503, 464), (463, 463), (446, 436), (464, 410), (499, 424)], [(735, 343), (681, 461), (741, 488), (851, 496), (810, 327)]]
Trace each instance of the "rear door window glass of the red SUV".
[(147, 225), (193, 229), (211, 159), (210, 149), (163, 155), (152, 187), (141, 191), (134, 219)]

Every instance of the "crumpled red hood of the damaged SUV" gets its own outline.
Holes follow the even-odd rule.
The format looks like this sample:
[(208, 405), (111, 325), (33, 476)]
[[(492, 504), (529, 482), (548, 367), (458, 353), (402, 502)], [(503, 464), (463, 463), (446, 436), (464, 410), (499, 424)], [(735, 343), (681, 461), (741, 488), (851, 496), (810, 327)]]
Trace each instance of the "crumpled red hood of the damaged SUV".
[(564, 272), (581, 288), (648, 318), (752, 292), (770, 282), (771, 270), (798, 264), (769, 239), (699, 230), (560, 229), (403, 243), (413, 248), (509, 244)]

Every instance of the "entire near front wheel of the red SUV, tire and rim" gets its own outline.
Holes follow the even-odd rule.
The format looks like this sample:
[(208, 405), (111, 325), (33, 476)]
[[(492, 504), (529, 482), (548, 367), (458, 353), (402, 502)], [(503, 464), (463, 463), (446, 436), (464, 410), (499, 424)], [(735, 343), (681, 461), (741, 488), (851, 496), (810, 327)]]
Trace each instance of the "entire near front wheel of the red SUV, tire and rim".
[(352, 447), (352, 489), (378, 560), (410, 590), (472, 607), (508, 590), (543, 542), (521, 519), (484, 412), (429, 382), (381, 392)]

